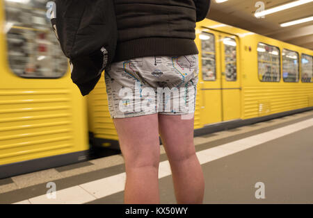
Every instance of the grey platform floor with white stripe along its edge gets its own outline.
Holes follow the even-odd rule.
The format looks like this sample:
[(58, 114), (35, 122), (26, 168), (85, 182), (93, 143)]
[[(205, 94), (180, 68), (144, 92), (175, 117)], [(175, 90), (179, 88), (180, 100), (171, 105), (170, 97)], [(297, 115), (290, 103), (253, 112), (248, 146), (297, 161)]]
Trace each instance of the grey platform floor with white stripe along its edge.
[[(313, 111), (195, 137), (203, 203), (313, 203)], [(0, 203), (123, 203), (121, 155), (0, 179)], [(56, 199), (47, 198), (47, 183)], [(264, 184), (265, 199), (255, 192)], [(175, 204), (161, 146), (160, 203)]]

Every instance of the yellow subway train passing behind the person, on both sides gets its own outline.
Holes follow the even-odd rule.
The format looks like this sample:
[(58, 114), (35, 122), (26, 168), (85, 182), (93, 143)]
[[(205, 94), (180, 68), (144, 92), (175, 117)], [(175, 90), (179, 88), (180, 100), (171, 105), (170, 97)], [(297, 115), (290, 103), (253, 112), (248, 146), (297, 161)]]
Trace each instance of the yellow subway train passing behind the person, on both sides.
[[(0, 1), (0, 178), (86, 160), (93, 146), (119, 149), (104, 74), (81, 97), (46, 3)], [(195, 42), (195, 135), (313, 109), (312, 50), (210, 19)]]

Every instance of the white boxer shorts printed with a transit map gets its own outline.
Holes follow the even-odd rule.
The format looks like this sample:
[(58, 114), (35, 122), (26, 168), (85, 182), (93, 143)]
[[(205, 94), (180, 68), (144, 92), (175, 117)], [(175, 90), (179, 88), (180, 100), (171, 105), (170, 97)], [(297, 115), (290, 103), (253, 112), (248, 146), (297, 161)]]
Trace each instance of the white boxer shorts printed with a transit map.
[(193, 115), (198, 73), (198, 54), (113, 62), (104, 74), (111, 118)]

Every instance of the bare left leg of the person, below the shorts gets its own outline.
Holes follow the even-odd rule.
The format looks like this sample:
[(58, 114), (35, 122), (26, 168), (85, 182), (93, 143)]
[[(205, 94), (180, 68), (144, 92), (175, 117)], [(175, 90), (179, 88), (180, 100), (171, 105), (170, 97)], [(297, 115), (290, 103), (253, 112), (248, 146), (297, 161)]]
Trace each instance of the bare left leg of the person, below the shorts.
[(125, 160), (125, 203), (159, 203), (158, 115), (113, 119)]

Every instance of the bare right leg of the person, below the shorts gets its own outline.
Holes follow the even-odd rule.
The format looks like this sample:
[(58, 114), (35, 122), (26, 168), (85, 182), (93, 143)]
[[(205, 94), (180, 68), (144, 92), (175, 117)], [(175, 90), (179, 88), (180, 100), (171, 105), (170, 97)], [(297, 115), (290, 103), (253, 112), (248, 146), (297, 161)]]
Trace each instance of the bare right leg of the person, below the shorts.
[(193, 119), (159, 115), (159, 133), (170, 162), (177, 203), (202, 203), (204, 176), (193, 144)]

